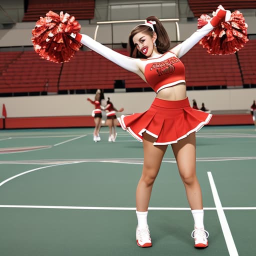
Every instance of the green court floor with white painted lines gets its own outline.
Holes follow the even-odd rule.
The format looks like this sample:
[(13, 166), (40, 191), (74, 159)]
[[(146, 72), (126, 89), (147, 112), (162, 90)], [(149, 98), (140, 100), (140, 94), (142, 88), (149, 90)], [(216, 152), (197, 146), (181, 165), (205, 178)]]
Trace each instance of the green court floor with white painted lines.
[(193, 247), (192, 215), (169, 146), (155, 181), (152, 247), (136, 245), (142, 143), (120, 127), (0, 130), (0, 255), (256, 255), (256, 130), (196, 133), (197, 176), (209, 246)]

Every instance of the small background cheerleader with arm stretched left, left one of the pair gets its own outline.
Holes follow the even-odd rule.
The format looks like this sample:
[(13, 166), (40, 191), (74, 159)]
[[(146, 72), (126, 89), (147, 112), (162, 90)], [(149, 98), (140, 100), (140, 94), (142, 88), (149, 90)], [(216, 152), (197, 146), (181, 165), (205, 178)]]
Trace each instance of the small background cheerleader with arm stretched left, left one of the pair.
[(97, 142), (100, 141), (99, 130), (101, 127), (101, 119), (102, 119), (102, 112), (101, 112), (101, 100), (104, 99), (103, 91), (97, 89), (94, 100), (87, 98), (87, 100), (94, 105), (94, 109), (92, 110), (91, 115), (94, 117), (95, 128), (93, 131), (93, 141)]

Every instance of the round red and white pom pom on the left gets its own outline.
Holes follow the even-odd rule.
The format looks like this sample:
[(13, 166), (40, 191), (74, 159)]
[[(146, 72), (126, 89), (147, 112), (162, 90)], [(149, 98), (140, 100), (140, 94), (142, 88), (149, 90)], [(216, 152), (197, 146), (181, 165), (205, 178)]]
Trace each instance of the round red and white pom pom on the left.
[(40, 17), (32, 29), (31, 37), (35, 52), (42, 58), (62, 63), (67, 62), (79, 50), (81, 43), (69, 36), (80, 31), (80, 24), (74, 16), (68, 13), (59, 15), (48, 11), (45, 17)]

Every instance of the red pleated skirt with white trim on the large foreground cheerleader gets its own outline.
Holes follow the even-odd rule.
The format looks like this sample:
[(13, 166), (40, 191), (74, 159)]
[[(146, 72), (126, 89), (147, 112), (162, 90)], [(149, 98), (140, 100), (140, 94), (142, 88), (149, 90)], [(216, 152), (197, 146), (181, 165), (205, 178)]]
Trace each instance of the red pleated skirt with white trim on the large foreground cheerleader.
[(143, 141), (142, 133), (146, 132), (156, 138), (154, 145), (166, 145), (198, 131), (211, 116), (192, 108), (187, 97), (181, 100), (155, 98), (145, 112), (121, 115), (118, 121), (140, 142)]

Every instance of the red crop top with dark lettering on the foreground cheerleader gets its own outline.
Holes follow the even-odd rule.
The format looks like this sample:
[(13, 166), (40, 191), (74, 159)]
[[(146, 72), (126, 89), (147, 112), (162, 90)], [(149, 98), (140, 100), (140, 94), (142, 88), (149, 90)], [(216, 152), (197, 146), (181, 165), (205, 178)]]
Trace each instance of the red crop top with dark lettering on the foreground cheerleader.
[(180, 59), (167, 51), (158, 58), (147, 59), (144, 76), (157, 93), (159, 90), (185, 82), (185, 67)]

